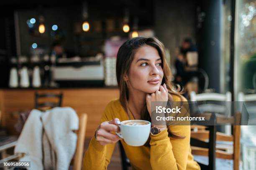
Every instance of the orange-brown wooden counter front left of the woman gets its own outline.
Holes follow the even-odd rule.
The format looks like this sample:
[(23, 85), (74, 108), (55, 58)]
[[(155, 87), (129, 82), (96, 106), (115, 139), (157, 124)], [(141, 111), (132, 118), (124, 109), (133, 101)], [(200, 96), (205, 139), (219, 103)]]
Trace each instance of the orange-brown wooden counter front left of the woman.
[(14, 125), (18, 113), (35, 107), (35, 93), (62, 92), (62, 106), (69, 106), (77, 114), (87, 113), (86, 138), (94, 135), (105, 106), (119, 97), (118, 88), (67, 88), (67, 89), (0, 89), (0, 125), (9, 133), (16, 134)]

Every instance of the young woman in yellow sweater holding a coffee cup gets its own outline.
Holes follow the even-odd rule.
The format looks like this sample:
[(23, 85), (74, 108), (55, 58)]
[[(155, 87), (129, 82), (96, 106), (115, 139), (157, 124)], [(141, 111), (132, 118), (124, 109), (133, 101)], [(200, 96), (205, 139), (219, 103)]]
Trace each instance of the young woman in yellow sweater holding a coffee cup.
[[(153, 37), (136, 37), (119, 49), (116, 76), (120, 98), (105, 108), (101, 124), (84, 155), (85, 170), (104, 170), (110, 163), (115, 135), (123, 120), (151, 121), (151, 101), (186, 101), (171, 84), (164, 45)], [(152, 125), (159, 133), (150, 134), (144, 146), (133, 147), (123, 140), (125, 153), (135, 170), (200, 170), (189, 145), (189, 125)]]

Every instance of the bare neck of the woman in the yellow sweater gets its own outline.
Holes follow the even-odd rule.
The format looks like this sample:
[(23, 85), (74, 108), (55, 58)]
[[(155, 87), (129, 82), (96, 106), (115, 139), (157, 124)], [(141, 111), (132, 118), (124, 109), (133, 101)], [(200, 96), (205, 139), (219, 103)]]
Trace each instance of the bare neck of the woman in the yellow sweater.
[(129, 90), (128, 110), (134, 119), (141, 119), (141, 110), (146, 103), (146, 93), (139, 90)]

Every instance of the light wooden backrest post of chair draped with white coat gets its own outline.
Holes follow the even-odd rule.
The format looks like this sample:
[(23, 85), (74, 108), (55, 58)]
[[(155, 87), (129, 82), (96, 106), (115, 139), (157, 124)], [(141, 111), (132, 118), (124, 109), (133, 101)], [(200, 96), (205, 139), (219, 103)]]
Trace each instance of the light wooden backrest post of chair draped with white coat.
[(74, 166), (73, 170), (82, 169), (82, 159), (84, 153), (84, 141), (85, 141), (85, 132), (87, 126), (87, 114), (82, 113), (79, 115), (79, 130), (77, 130), (77, 148), (74, 154)]

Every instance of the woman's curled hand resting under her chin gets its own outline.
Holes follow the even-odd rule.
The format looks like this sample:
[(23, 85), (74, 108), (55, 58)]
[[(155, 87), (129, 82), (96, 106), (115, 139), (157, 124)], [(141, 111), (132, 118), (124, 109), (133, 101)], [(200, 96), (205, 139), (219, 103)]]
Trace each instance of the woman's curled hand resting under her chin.
[(159, 90), (156, 92), (146, 95), (146, 103), (149, 115), (151, 116), (151, 102), (167, 102), (168, 101), (168, 89), (164, 85), (160, 85)]

